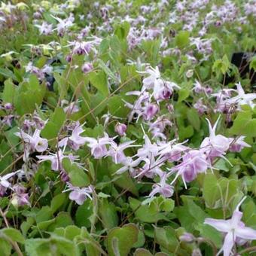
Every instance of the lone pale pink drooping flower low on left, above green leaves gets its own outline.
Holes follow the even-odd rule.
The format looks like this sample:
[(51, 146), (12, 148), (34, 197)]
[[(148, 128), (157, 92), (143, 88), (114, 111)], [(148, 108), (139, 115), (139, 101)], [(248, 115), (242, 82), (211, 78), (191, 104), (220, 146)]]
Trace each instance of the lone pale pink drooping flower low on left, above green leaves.
[(92, 200), (91, 194), (93, 194), (93, 187), (74, 187), (72, 184), (68, 183), (68, 189), (63, 190), (62, 193), (71, 191), (69, 194), (69, 199), (75, 201), (78, 205), (82, 205), (84, 201), (88, 198)]

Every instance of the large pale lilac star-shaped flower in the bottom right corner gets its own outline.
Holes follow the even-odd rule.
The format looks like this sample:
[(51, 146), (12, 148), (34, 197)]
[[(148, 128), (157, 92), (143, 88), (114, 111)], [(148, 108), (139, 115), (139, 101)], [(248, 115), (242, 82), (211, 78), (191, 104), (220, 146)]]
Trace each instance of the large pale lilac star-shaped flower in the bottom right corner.
[(218, 254), (221, 254), (223, 251), (224, 256), (230, 256), (233, 246), (239, 239), (256, 240), (256, 230), (253, 230), (251, 227), (245, 227), (245, 224), (241, 221), (242, 212), (239, 211), (239, 207), (242, 205), (245, 198), (246, 197), (244, 197), (236, 206), (230, 219), (219, 220), (215, 218), (206, 218), (204, 222), (225, 234), (224, 243), (221, 250), (218, 251)]

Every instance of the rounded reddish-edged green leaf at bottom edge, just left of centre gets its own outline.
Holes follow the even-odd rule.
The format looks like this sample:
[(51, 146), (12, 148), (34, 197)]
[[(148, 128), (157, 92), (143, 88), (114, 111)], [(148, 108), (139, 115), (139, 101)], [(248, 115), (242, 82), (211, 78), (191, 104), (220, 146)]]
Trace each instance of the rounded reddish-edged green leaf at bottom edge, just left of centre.
[[(137, 242), (139, 229), (135, 224), (126, 224), (123, 227), (114, 227), (108, 232), (107, 248), (110, 256), (115, 256), (113, 250), (113, 240), (116, 241), (117, 250), (120, 256), (129, 254), (134, 243)], [(115, 242), (114, 242), (115, 243)]]

